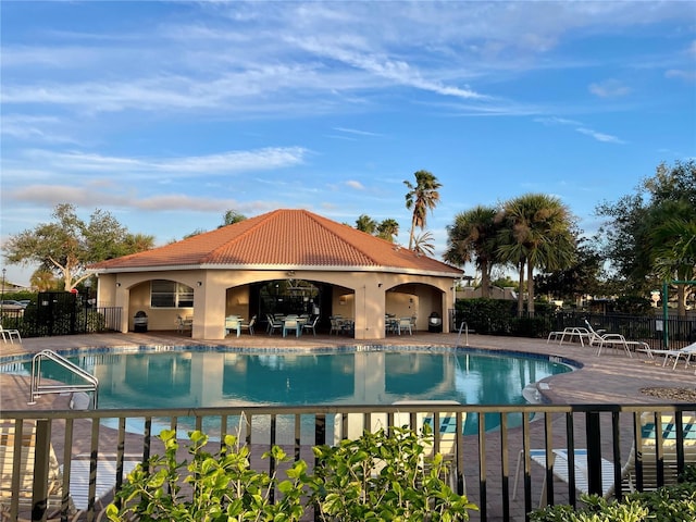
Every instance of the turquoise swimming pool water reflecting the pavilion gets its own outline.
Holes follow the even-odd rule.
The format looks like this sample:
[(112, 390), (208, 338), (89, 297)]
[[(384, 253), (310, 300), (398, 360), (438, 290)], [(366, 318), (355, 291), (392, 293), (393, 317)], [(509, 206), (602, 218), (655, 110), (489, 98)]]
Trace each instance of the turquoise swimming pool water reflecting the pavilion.
[[(456, 400), (520, 405), (522, 389), (568, 368), (549, 361), (453, 352), (350, 351), (238, 353), (165, 351), (69, 358), (99, 378), (100, 409), (196, 408), (250, 405), (391, 405), (397, 400)], [(30, 361), (0, 366), (30, 372)], [(42, 376), (76, 377), (49, 361)], [(510, 420), (511, 423), (515, 421)], [(519, 420), (517, 421), (519, 422)], [(467, 419), (474, 433), (476, 415)], [(494, 428), (498, 415), (486, 419)]]

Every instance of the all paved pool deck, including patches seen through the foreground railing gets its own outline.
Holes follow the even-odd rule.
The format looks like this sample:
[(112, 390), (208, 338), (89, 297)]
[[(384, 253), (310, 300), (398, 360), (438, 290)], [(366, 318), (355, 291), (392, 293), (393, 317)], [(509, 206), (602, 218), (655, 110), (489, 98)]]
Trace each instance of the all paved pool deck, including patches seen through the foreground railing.
[[(192, 341), (189, 336), (177, 334), (176, 332), (156, 332), (147, 334), (99, 334), (84, 336), (65, 336), (65, 337), (46, 337), (25, 339), (22, 345), (18, 344), (1, 344), (0, 343), (0, 360), (5, 356), (34, 353), (42, 349), (63, 350), (71, 348), (96, 348), (96, 347), (133, 347), (133, 346), (181, 346), (181, 345), (221, 345), (221, 346), (238, 346), (253, 348), (302, 348), (311, 350), (314, 348), (324, 348), (327, 346), (346, 346), (346, 345), (370, 345), (370, 346), (457, 346), (464, 345), (465, 339), (457, 334), (433, 334), (418, 333), (413, 336), (388, 336), (380, 341), (358, 341), (345, 336), (327, 336), (318, 335), (316, 337), (303, 335), (300, 338), (287, 337), (279, 335), (269, 336), (265, 332), (258, 332), (257, 335), (248, 334), (241, 337), (229, 337), (225, 340), (215, 341)], [(648, 360), (644, 355), (629, 358), (623, 350), (606, 350), (601, 356), (596, 356), (596, 349), (588, 346), (580, 346), (579, 344), (558, 343), (547, 344), (545, 339), (529, 339), (517, 337), (495, 337), (470, 335), (469, 346), (472, 348), (481, 348), (493, 351), (520, 351), (529, 353), (544, 353), (562, 356), (576, 361), (582, 368), (579, 370), (548, 377), (544, 382), (542, 393), (552, 403), (620, 403), (620, 405), (637, 405), (637, 403), (666, 403), (673, 400), (663, 400), (658, 397), (645, 395), (641, 391), (646, 387), (666, 387), (666, 388), (685, 388), (696, 390), (696, 376), (694, 375), (694, 366), (684, 368), (681, 363), (676, 370), (672, 368), (663, 368), (661, 358), (657, 361)], [(28, 396), (28, 382), (26, 377), (17, 377), (14, 375), (0, 374), (0, 408), (8, 410), (28, 409), (26, 405)], [(63, 396), (45, 396), (39, 398), (35, 409), (64, 409), (67, 408), (67, 397)], [(683, 401), (688, 401), (686, 399)], [(691, 405), (691, 402), (689, 402)], [(691, 406), (689, 406), (691, 408)], [(693, 405), (696, 409), (696, 403)], [(564, 433), (564, 419), (558, 415), (552, 420), (555, 434)], [(532, 423), (532, 444), (534, 447), (544, 447), (544, 423)], [(625, 426), (629, 430), (630, 426)], [(79, 426), (76, 427), (76, 440), (79, 442)], [(88, 430), (88, 426), (85, 426)], [(582, 440), (584, 423), (582, 420), (575, 424), (577, 433), (576, 442)], [(104, 431), (105, 432), (105, 431)], [(514, 431), (510, 431), (514, 432)], [(514, 467), (517, 455), (521, 448), (518, 433), (511, 433), (510, 439), (507, 442), (509, 449), (509, 467), (510, 474), (509, 495), (511, 496), (512, 481), (514, 480)], [(604, 427), (602, 427), (604, 433)], [(87, 435), (87, 433), (85, 434)], [(108, 433), (100, 435), (108, 436)], [(475, 437), (474, 437), (475, 438)], [(468, 494), (474, 504), (480, 504), (480, 490), (476, 477), (477, 469), (477, 440), (474, 438), (467, 440), (467, 451), (464, 475), (468, 480)], [(556, 438), (556, 436), (555, 436)], [(604, 438), (604, 437), (602, 437)], [(85, 437), (88, 439), (88, 436)], [(624, 440), (630, 440), (630, 431), (626, 433)], [(504, 520), (501, 513), (501, 501), (504, 495), (502, 481), (500, 476), (500, 448), (501, 442), (498, 433), (486, 434), (486, 453), (489, 456), (489, 469), (487, 470), (487, 514), (488, 521)], [(555, 444), (558, 442), (555, 440)], [(610, 451), (611, 440), (602, 440)], [(582, 444), (582, 443), (577, 443)], [(562, 447), (562, 446), (559, 446)], [(582, 447), (582, 446), (581, 446)], [(622, 451), (626, 450), (623, 448)], [(626, 453), (623, 453), (626, 455)], [(497, 460), (496, 460), (497, 459)], [(536, 505), (538, 500), (537, 489), (540, 487), (543, 469), (533, 467), (533, 501)], [(558, 484), (556, 488), (557, 501), (563, 501), (563, 486)], [(518, 494), (517, 500), (511, 500), (510, 517), (508, 520), (524, 520), (524, 506), (521, 493)], [(510, 497), (509, 497), (510, 498)], [(472, 513), (472, 521), (478, 520), (476, 513)]]

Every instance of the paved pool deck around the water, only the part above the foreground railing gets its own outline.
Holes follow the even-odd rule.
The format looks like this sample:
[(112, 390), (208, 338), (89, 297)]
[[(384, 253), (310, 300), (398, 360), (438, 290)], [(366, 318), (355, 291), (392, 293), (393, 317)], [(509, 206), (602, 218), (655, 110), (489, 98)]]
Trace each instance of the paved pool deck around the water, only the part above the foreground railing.
[[(189, 334), (190, 335), (190, 334)], [(227, 337), (224, 340), (191, 340), (190, 336), (176, 332), (152, 332), (145, 334), (95, 334), (62, 337), (27, 338), (22, 344), (0, 343), (0, 357), (36, 353), (44, 349), (54, 351), (74, 348), (104, 348), (133, 346), (182, 346), (211, 345), (245, 348), (302, 348), (316, 349), (331, 346), (460, 346), (465, 345), (464, 336), (458, 334), (417, 333), (414, 335), (389, 335), (386, 339), (356, 341), (347, 336), (302, 335), (286, 337), (257, 332), (256, 335)], [(458, 343), (459, 340), (459, 343)], [(492, 351), (522, 351), (561, 356), (582, 363), (583, 368), (571, 373), (544, 380), (548, 389), (542, 393), (552, 403), (649, 403), (666, 402), (662, 399), (641, 393), (645, 387), (679, 387), (696, 389), (694, 366), (684, 368), (680, 362), (675, 370), (662, 366), (662, 358), (650, 361), (644, 353), (629, 358), (623, 349), (605, 349), (596, 356), (596, 347), (581, 346), (579, 343), (546, 343), (546, 339), (523, 337), (498, 337), (469, 335), (469, 346)], [(3, 410), (27, 409), (27, 387), (24, 378), (0, 375), (0, 408)], [(546, 387), (546, 386), (545, 386)], [(34, 408), (61, 408), (63, 397), (41, 397)], [(672, 402), (673, 399), (669, 400)]]

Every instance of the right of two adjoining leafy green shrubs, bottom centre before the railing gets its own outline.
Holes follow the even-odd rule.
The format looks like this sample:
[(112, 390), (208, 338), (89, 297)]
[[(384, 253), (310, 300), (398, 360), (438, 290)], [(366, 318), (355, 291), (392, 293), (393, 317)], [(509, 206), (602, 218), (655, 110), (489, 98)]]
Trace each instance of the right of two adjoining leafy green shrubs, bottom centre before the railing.
[(446, 483), (452, 470), (442, 453), (428, 457), (424, 437), (406, 427), (365, 432), (338, 446), (318, 446), (309, 481), (321, 520), (456, 521), (476, 509)]

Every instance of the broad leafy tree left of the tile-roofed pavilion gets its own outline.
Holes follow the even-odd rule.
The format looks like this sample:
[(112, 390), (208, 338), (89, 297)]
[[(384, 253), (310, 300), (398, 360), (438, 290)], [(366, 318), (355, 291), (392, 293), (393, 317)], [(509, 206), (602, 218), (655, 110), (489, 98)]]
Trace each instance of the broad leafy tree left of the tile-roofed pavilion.
[(85, 223), (75, 207), (62, 203), (53, 211), (53, 222), (10, 236), (2, 247), (9, 264), (38, 263), (40, 269), (60, 274), (65, 290), (89, 277), (87, 265), (128, 253), (154, 239), (140, 236), (136, 243), (109, 212), (96, 210)]

